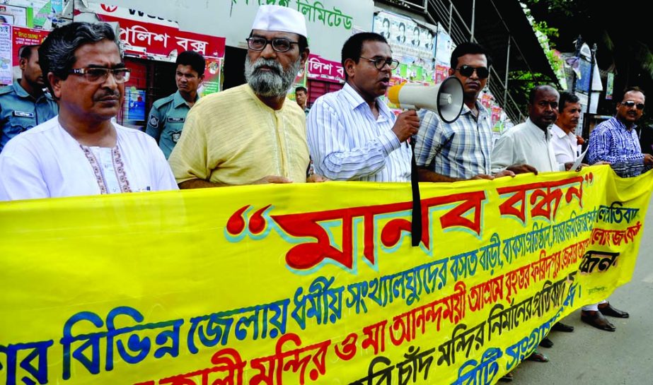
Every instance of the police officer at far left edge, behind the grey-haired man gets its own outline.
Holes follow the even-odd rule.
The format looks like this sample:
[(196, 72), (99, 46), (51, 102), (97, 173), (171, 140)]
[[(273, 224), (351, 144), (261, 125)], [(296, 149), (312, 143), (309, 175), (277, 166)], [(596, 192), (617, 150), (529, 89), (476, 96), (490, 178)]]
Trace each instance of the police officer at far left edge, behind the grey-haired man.
[(57, 116), (57, 103), (43, 93), (45, 83), (38, 64), (38, 48), (21, 47), (21, 78), (0, 88), (0, 151), (9, 139)]

